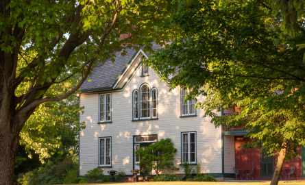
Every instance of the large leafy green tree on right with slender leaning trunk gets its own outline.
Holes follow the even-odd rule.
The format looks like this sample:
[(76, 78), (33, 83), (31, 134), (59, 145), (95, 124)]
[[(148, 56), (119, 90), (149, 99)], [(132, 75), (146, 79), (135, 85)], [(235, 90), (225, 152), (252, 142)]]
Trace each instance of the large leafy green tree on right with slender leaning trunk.
[[(177, 3), (164, 27), (178, 27), (187, 37), (147, 63), (171, 88), (192, 89), (186, 99), (205, 95), (196, 108), (217, 127), (249, 130), (252, 142), (243, 147), (261, 145), (278, 155), (271, 182), (278, 184), (284, 160), (300, 156), (297, 147), (305, 145), (304, 1)], [(215, 113), (233, 106), (241, 111)]]

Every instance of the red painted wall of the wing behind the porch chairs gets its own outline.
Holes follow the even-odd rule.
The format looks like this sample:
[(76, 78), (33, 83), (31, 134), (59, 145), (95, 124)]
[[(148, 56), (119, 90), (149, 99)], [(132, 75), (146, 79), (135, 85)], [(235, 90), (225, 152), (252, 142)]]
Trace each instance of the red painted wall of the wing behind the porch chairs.
[[(247, 169), (246, 173), (251, 173), (252, 167), (254, 167), (253, 178), (254, 180), (271, 180), (260, 178), (260, 147), (256, 147), (256, 149), (243, 149), (240, 147), (242, 144), (245, 144), (249, 141), (249, 138), (243, 138), (243, 136), (235, 136), (235, 166), (239, 169)], [(298, 148), (298, 151), (301, 152), (301, 147)], [(276, 166), (276, 158), (273, 158), (274, 167)], [(289, 169), (286, 173), (291, 173), (290, 169), (292, 166), (295, 166), (295, 180), (300, 180), (301, 176), (301, 159), (299, 157), (292, 159), (289, 162), (284, 162), (283, 169)], [(241, 171), (239, 172), (241, 173)], [(251, 178), (249, 175), (248, 179)], [(243, 176), (243, 180), (245, 179), (245, 172)]]

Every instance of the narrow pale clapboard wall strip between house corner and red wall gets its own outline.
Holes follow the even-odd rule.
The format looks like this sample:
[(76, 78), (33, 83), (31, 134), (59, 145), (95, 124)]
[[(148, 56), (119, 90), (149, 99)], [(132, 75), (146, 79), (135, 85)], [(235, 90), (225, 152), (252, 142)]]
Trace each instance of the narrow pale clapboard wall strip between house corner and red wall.
[(223, 136), (223, 157), (225, 173), (233, 173), (235, 167), (234, 136)]

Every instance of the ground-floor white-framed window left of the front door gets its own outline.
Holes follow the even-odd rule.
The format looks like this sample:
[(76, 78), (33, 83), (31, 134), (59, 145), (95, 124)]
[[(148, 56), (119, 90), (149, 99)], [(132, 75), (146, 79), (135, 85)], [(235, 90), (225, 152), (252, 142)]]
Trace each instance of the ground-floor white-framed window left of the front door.
[(111, 166), (111, 138), (99, 138), (99, 166)]

